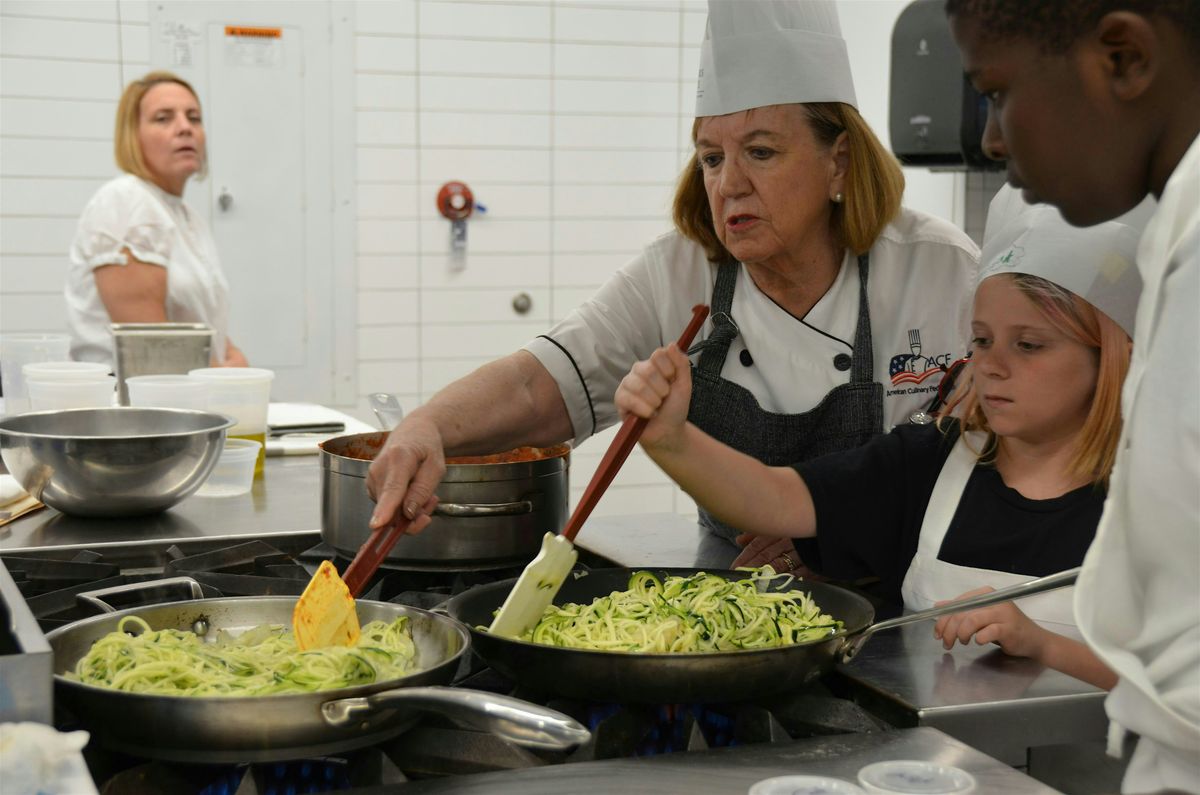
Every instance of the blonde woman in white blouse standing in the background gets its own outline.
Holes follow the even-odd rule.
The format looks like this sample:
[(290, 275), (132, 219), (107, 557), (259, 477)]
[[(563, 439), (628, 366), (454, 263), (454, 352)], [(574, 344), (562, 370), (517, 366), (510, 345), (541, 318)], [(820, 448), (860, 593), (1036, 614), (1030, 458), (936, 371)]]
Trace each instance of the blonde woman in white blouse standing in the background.
[(116, 107), (116, 165), (84, 208), (65, 288), (71, 358), (113, 364), (110, 323), (211, 325), (212, 363), (245, 366), (227, 336), (229, 283), (204, 220), (184, 202), (205, 172), (196, 91), (170, 72), (130, 83)]

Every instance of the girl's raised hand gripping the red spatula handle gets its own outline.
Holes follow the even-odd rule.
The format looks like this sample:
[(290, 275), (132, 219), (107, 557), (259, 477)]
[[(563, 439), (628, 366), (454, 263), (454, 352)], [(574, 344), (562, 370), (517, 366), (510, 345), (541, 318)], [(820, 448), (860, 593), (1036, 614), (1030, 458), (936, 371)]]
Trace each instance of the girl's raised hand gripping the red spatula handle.
[(622, 419), (634, 414), (649, 420), (642, 446), (664, 450), (682, 447), (690, 401), (691, 365), (673, 342), (635, 364), (614, 399)]

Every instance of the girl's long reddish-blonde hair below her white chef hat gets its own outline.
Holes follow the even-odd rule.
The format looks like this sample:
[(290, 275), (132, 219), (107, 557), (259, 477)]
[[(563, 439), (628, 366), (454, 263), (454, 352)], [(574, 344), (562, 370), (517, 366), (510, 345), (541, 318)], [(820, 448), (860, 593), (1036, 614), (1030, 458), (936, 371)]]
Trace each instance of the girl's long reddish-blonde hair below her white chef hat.
[[(1121, 436), (1121, 385), (1129, 371), (1129, 335), (1108, 315), (1051, 281), (1028, 274), (1001, 274), (994, 279), (1010, 280), (1055, 329), (1096, 352), (1092, 407), (1076, 435), (1079, 442), (1068, 464), (1068, 473), (1106, 486)], [(980, 460), (986, 460), (995, 456), (997, 440), (979, 405), (973, 369), (973, 364), (967, 364), (942, 417), (944, 419), (956, 412), (964, 432), (985, 431), (988, 442), (978, 455)]]

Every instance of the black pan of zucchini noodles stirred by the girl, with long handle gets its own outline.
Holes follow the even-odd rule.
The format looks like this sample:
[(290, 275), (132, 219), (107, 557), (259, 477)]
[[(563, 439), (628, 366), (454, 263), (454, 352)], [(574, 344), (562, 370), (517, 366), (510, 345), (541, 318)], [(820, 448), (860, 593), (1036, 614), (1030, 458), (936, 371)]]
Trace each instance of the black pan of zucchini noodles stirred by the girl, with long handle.
[(1063, 587), (1076, 574), (878, 623), (854, 591), (770, 568), (576, 570), (520, 639), (487, 630), (514, 580), (470, 588), (444, 608), (470, 628), (476, 654), (533, 693), (640, 704), (749, 701), (848, 662), (881, 629)]

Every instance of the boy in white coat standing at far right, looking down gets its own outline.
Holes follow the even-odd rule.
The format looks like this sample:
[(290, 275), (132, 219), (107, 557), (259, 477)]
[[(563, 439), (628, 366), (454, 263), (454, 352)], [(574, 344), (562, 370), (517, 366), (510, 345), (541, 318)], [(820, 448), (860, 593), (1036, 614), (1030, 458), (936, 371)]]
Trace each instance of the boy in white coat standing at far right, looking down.
[(1087, 226), (1153, 195), (1124, 426), (1075, 612), (1118, 679), (1123, 791), (1200, 791), (1200, 2), (947, 0), (984, 150)]

